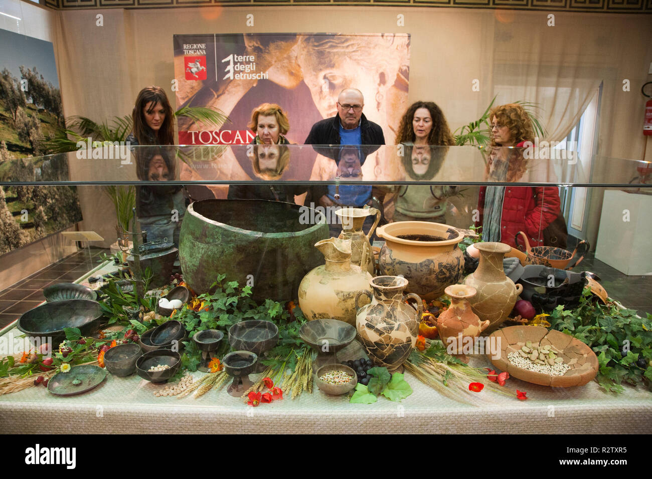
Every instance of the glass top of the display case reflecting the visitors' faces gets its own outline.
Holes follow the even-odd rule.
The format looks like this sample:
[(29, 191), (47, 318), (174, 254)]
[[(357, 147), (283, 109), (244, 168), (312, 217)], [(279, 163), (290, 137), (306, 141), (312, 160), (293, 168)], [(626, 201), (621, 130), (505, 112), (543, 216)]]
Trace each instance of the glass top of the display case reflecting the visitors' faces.
[[(652, 165), (595, 157), (548, 143), (527, 148), (332, 145), (112, 145), (8, 160), (0, 184), (550, 184), (649, 188)], [(552, 159), (550, 158), (552, 156)]]

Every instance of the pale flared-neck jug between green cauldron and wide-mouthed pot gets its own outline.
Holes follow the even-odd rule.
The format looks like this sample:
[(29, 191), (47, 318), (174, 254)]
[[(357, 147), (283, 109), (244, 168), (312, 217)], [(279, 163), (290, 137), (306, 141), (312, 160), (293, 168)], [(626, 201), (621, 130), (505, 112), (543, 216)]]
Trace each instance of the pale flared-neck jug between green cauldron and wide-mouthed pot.
[[(342, 233), (338, 238), (351, 240), (351, 264), (374, 274), (374, 252), (369, 239), (380, 221), (380, 210), (376, 208), (342, 208), (335, 212), (342, 219)], [(363, 224), (367, 216), (376, 216), (369, 233), (364, 234)]]

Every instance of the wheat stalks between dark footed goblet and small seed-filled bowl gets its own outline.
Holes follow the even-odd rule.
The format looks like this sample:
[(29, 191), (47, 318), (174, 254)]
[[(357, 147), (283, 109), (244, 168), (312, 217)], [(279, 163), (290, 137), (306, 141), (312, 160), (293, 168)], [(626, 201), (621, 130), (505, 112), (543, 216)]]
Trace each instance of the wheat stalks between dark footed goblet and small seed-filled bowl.
[[(296, 354), (299, 359), (294, 368), (294, 371), (288, 375), (288, 360), (290, 355)], [(299, 351), (292, 350), (289, 355), (282, 359), (280, 357), (274, 358), (277, 361), (277, 364), (274, 366), (269, 366), (260, 379), (254, 383), (248, 390), (243, 394), (243, 398), (247, 398), (250, 392), (259, 392), (265, 387), (263, 379), (269, 377), (274, 385), (280, 385), (280, 388), (283, 390), (283, 395), (286, 396), (288, 392), (291, 392), (291, 398), (294, 399), (297, 396), (301, 395), (303, 391), (312, 392), (312, 362), (315, 359), (315, 353), (309, 347), (303, 347)], [(282, 360), (282, 362), (281, 362)]]

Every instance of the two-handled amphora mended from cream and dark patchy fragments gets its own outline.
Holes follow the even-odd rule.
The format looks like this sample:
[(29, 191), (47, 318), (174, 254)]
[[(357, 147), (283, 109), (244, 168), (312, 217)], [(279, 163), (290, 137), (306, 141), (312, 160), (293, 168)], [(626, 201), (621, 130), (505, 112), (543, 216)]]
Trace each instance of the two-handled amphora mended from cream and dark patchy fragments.
[[(370, 304), (359, 304), (362, 307), (355, 321), (358, 338), (376, 366), (390, 371), (402, 369), (417, 343), (422, 300), (414, 293), (404, 297), (408, 280), (401, 276), (377, 276), (370, 284), (373, 296), (365, 291), (356, 298), (356, 302), (364, 296), (371, 298)], [(417, 310), (406, 303), (407, 298), (417, 302)]]

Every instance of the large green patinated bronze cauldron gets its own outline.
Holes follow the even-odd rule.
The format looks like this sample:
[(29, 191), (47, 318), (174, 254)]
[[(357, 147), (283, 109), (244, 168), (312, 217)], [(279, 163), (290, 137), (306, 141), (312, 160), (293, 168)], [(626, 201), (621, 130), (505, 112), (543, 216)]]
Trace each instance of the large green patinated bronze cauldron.
[(208, 293), (221, 273), (241, 287), (253, 285), (254, 300), (290, 300), (303, 277), (323, 264), (314, 244), (328, 237), (323, 215), (308, 207), (205, 199), (183, 216), (179, 263), (183, 280), (198, 294)]

